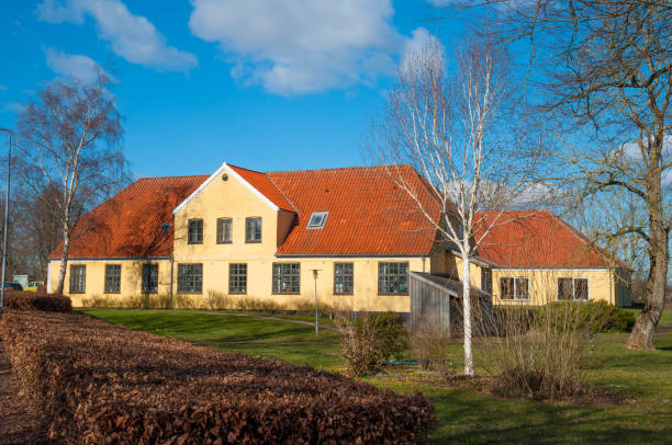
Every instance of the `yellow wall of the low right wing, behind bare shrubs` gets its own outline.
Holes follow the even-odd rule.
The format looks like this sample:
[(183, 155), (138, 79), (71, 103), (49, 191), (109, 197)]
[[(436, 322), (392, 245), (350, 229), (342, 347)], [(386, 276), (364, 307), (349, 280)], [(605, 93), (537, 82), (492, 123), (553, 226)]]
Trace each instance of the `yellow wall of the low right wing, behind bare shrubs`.
[[(500, 278), (526, 277), (528, 278), (528, 300), (501, 299)], [(629, 288), (625, 281), (617, 282), (616, 273), (608, 269), (516, 269), (493, 270), (493, 304), (495, 305), (544, 305), (558, 300), (558, 278), (574, 277), (587, 278), (589, 299), (604, 300), (618, 306), (629, 306)], [(617, 289), (620, 283), (621, 288)], [(617, 296), (618, 290), (618, 296)]]

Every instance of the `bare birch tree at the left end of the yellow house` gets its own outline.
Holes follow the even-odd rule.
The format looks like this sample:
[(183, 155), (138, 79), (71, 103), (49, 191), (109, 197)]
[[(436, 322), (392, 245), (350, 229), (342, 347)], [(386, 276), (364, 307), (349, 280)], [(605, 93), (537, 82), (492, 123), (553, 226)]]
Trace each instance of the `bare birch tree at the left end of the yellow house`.
[[(70, 236), (81, 210), (124, 181), (121, 117), (109, 78), (94, 83), (56, 80), (19, 115), (23, 181), (53, 215), (63, 235), (56, 293), (63, 293)], [(45, 191), (58, 190), (58, 195)]]

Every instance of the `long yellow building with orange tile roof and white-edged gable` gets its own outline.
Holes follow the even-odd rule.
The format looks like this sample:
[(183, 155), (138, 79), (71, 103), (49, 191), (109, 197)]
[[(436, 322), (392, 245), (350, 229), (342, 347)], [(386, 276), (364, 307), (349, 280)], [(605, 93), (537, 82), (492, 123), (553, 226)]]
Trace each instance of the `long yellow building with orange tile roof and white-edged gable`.
[[(438, 217), (417, 172), (408, 166), (399, 172)], [(527, 218), (536, 215), (557, 219), (550, 213)], [(85, 215), (72, 235), (64, 293), (75, 306), (156, 295), (192, 306), (225, 296), (228, 307), (255, 299), (285, 309), (305, 307), (316, 293), (333, 307), (407, 312), (410, 271), (459, 278), (461, 259), (436, 240), (384, 167), (261, 173), (224, 163), (210, 176), (141, 179)], [(495, 303), (538, 304), (542, 293), (529, 283), (551, 275), (563, 296), (564, 278), (572, 278), (572, 298), (582, 298), (580, 279), (587, 277), (590, 299), (629, 301), (606, 260), (587, 269), (579, 261), (523, 270), (481, 244), (472, 283), (492, 290)], [(59, 247), (49, 260), (48, 290), (56, 287), (60, 253)], [(509, 276), (515, 298), (507, 298)], [(542, 287), (558, 295), (550, 284)]]

